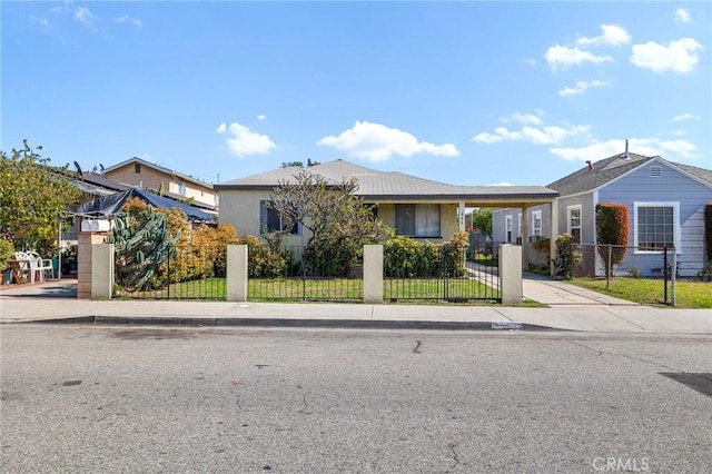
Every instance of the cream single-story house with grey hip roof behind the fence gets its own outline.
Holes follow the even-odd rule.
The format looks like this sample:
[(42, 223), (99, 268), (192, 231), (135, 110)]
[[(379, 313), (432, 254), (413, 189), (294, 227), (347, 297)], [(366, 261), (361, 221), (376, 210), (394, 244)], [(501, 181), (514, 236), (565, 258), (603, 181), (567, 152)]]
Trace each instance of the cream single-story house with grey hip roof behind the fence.
[[(279, 182), (307, 171), (332, 182), (356, 178), (356, 195), (376, 206), (377, 216), (396, 235), (442, 243), (465, 230), (471, 207), (550, 206), (558, 195), (543, 186), (454, 186), (393, 171), (378, 171), (334, 160), (308, 168), (288, 167), (215, 185), (220, 200), (219, 221), (239, 235), (260, 236), (281, 228), (280, 216), (267, 204)], [(305, 245), (309, 236), (296, 227), (289, 245)]]

